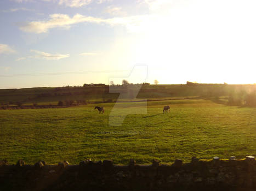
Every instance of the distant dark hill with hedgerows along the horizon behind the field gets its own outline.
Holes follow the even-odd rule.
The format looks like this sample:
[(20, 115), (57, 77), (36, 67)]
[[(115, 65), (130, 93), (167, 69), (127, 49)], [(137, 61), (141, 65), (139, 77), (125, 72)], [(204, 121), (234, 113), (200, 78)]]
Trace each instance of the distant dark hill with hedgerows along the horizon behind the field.
[[(140, 88), (141, 87), (141, 88)], [(136, 89), (139, 93), (136, 96)], [(83, 87), (36, 87), (21, 89), (0, 89), (0, 104), (58, 104), (59, 101), (73, 102), (115, 102), (120, 93), (110, 93), (110, 86), (104, 84), (84, 85)], [(230, 96), (234, 92), (251, 92), (256, 85), (227, 85), (187, 82), (186, 85), (115, 85), (111, 92), (122, 92), (120, 99), (163, 99), (174, 97), (214, 98)]]

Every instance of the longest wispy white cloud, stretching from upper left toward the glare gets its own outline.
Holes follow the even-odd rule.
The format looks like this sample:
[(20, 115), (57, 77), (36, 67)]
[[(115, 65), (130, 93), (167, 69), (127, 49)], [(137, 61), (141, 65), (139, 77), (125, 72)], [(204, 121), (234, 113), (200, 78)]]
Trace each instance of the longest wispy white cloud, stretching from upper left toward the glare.
[[(51, 28), (66, 28), (69, 29), (72, 25), (82, 22), (105, 23), (110, 26), (121, 25), (126, 26), (130, 32), (138, 32), (143, 29), (143, 26), (149, 25), (152, 21), (152, 16), (138, 15), (128, 17), (113, 17), (111, 19), (101, 19), (91, 16), (83, 16), (76, 14), (73, 17), (65, 14), (50, 15), (50, 19), (46, 21), (32, 21), (20, 25), (20, 30), (31, 33), (46, 33)], [(142, 28), (141, 28), (142, 27)]]

